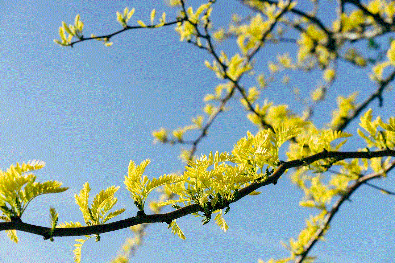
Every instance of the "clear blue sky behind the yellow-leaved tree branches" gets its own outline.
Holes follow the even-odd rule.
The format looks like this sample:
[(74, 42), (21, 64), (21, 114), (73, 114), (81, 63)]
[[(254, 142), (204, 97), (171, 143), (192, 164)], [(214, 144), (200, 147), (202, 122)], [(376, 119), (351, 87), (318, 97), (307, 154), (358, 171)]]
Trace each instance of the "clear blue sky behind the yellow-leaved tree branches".
[[(306, 2), (301, 0), (302, 4)], [(196, 9), (198, 1), (189, 4)], [(190, 117), (202, 113), (202, 98), (219, 83), (203, 64), (205, 59), (212, 61), (207, 52), (180, 42), (173, 27), (130, 30), (111, 39), (112, 47), (98, 41), (85, 41), (73, 48), (53, 43), (60, 23), (73, 23), (76, 14), (81, 14), (86, 36), (119, 30), (115, 12), (126, 6), (136, 9), (131, 25), (137, 19), (149, 23), (152, 8), (156, 8), (157, 16), (166, 11), (167, 21), (176, 13), (162, 1), (0, 2), (0, 167), (5, 170), (11, 163), (40, 159), (47, 166), (36, 173), (37, 180), (59, 180), (70, 187), (64, 193), (32, 201), (23, 214), (24, 222), (49, 226), (50, 205), (60, 213), (60, 222), (83, 221), (73, 195), (86, 181), (92, 188), (91, 196), (102, 188), (120, 185), (116, 208), (126, 207), (119, 219), (128, 218), (137, 211), (123, 187), (129, 160), (139, 163), (150, 158), (152, 163), (146, 170), (149, 177), (183, 170), (177, 158), (180, 147), (152, 145), (151, 132), (190, 124)], [(218, 1), (214, 5), (214, 25), (226, 26), (233, 12), (246, 15), (249, 11), (238, 1)], [(325, 10), (321, 13), (325, 21), (333, 15), (325, 14)], [(218, 48), (230, 54), (237, 52), (234, 47)], [(276, 53), (288, 48), (295, 52), (292, 45), (267, 45), (257, 57), (257, 72), (263, 70), (267, 75), (267, 58), (274, 59)], [(339, 66), (339, 80), (313, 117), (318, 126), (329, 122), (337, 94), (360, 90), (358, 99), (362, 101), (376, 89), (367, 80), (370, 68), (354, 71), (345, 64)], [(320, 74), (289, 73), (305, 96), (314, 89)], [(256, 85), (253, 79), (245, 78), (242, 84)], [(389, 99), (384, 100), (383, 108), (373, 102), (374, 115), (384, 119), (393, 116), (394, 96), (393, 90), (387, 93)], [(263, 98), (276, 104), (288, 103), (301, 111), (301, 105), (280, 81), (264, 90)], [(199, 144), (199, 154), (230, 151), (247, 130), (256, 131), (239, 103), (232, 101), (230, 105), (231, 111), (215, 120), (208, 137)], [(357, 122), (347, 131), (356, 134)], [(190, 138), (195, 136), (191, 134)], [(355, 137), (343, 149), (359, 147), (363, 145)], [(386, 180), (374, 183), (393, 191), (393, 177), (392, 172)], [(298, 206), (302, 193), (289, 184), (287, 176), (261, 191), (261, 195), (245, 197), (231, 206), (225, 217), (230, 227), (226, 233), (214, 222), (201, 225), (193, 216), (177, 220), (186, 240), (174, 236), (166, 224), (151, 225), (144, 245), (131, 262), (252, 263), (258, 258), (288, 256), (279, 240), (288, 243), (290, 237), (296, 237), (304, 227), (303, 218), (316, 211)], [(319, 242), (311, 255), (318, 255), (317, 263), (394, 262), (393, 196), (363, 186), (351, 199), (335, 216), (327, 242)], [(83, 246), (83, 262), (111, 260), (130, 235), (123, 229), (102, 234), (98, 243), (89, 240)], [(1, 261), (73, 261), (75, 237), (58, 237), (50, 242), (19, 231), (18, 236), (19, 244), (13, 244), (4, 233), (0, 235)]]

